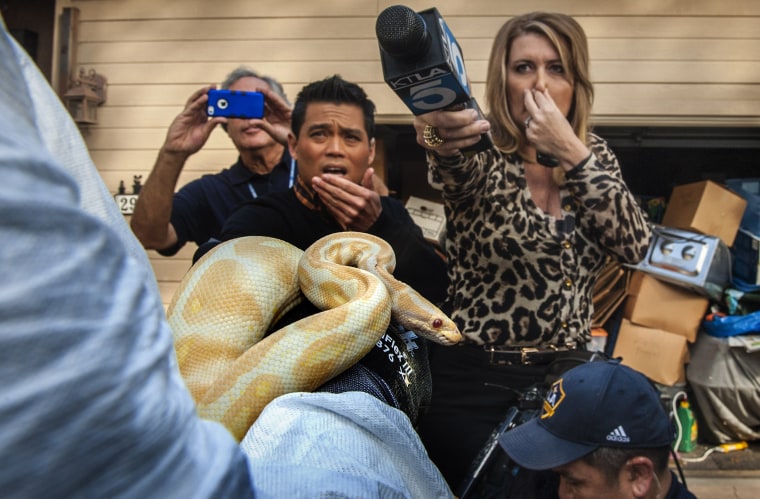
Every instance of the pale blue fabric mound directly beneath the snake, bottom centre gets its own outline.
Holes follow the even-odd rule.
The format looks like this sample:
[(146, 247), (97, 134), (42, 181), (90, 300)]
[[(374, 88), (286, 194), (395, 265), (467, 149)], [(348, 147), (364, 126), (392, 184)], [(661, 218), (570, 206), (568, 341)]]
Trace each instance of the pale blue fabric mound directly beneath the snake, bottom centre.
[(363, 392), (279, 397), (241, 446), (257, 497), (453, 497), (409, 418)]

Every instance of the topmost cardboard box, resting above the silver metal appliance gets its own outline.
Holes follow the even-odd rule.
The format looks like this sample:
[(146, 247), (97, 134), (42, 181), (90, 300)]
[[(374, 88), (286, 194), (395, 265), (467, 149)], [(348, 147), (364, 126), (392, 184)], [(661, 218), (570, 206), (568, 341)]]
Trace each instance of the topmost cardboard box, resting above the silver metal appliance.
[(670, 194), (662, 225), (715, 236), (731, 246), (746, 207), (746, 199), (711, 180), (679, 185)]

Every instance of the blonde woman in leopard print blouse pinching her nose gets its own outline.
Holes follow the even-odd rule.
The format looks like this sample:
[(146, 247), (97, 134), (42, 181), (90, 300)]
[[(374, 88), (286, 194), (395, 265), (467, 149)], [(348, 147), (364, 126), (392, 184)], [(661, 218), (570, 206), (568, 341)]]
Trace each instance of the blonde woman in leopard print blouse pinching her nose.
[[(589, 130), (586, 35), (571, 17), (508, 20), (493, 43), (486, 113), (415, 118), (443, 185), (448, 306), (466, 340), (434, 348), (420, 434), (456, 490), (489, 433), (563, 351), (591, 339), (608, 256), (635, 263), (651, 233), (606, 142)], [(489, 132), (493, 147), (462, 154)]]

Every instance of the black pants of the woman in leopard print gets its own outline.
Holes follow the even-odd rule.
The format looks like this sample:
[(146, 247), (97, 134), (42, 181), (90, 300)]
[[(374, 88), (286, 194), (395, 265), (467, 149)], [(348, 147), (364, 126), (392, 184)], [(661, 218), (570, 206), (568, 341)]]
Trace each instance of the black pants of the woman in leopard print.
[(457, 491), (491, 432), (547, 366), (491, 365), (477, 346), (431, 344), (433, 394), (418, 431), (432, 461)]

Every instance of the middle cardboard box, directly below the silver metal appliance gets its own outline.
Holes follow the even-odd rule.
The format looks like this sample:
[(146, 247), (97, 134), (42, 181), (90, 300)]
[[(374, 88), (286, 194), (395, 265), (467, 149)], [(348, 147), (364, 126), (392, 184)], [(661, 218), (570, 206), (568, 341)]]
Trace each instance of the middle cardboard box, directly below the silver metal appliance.
[(709, 305), (710, 300), (704, 296), (635, 271), (623, 317), (639, 326), (681, 335), (693, 343)]

